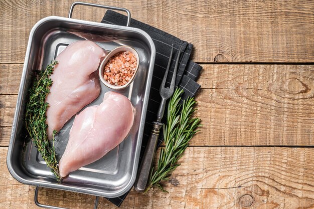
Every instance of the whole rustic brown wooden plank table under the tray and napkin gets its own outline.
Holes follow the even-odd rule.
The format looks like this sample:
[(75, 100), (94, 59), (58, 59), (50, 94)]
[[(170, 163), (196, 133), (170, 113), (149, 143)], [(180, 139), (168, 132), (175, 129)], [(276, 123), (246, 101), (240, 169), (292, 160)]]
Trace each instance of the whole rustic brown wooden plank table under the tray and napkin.
[[(16, 181), (6, 157), (28, 37), (73, 1), (0, 3), (0, 207), (37, 208), (34, 187)], [(121, 208), (314, 208), (314, 2), (89, 1), (194, 44), (202, 64), (196, 100), (203, 127), (169, 193), (132, 190)], [(100, 22), (102, 9), (74, 18)], [(94, 197), (40, 189), (39, 199), (91, 208)], [(104, 198), (99, 208), (115, 208)]]

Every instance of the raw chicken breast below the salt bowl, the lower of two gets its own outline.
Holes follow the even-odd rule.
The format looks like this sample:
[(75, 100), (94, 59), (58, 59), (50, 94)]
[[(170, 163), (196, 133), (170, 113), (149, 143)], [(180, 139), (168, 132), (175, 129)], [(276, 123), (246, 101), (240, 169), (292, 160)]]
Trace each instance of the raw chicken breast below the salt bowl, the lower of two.
[(134, 121), (130, 100), (122, 94), (107, 92), (103, 102), (76, 115), (69, 141), (59, 162), (62, 177), (95, 162), (120, 144)]

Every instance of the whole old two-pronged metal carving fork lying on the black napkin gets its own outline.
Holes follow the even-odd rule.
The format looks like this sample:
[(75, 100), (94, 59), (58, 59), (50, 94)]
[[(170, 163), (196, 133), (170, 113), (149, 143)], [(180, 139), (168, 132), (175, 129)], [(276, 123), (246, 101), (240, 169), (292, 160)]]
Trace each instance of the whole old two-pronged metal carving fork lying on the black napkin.
[(166, 80), (168, 77), (168, 72), (169, 72), (169, 68), (170, 68), (170, 64), (171, 64), (171, 60), (172, 60), (174, 45), (172, 45), (171, 55), (170, 55), (170, 58), (168, 61), (168, 66), (167, 66), (167, 69), (166, 69), (166, 72), (165, 72), (165, 75), (163, 78), (162, 85), (159, 89), (160, 95), (162, 97), (162, 103), (159, 106), (157, 120), (153, 122), (153, 128), (151, 130), (148, 144), (146, 146), (144, 156), (142, 158), (142, 161), (141, 161), (138, 173), (137, 173), (137, 178), (136, 178), (135, 184), (134, 184), (135, 190), (139, 191), (139, 192), (143, 192), (146, 189), (147, 181), (148, 181), (149, 174), (150, 174), (150, 168), (152, 166), (152, 161), (153, 161), (153, 157), (154, 157), (154, 153), (155, 153), (155, 149), (156, 149), (156, 145), (157, 145), (157, 141), (158, 141), (159, 132), (160, 132), (161, 127), (164, 125), (161, 121), (164, 117), (166, 101), (173, 95), (173, 93), (175, 91), (175, 83), (176, 83), (176, 76), (177, 76), (177, 70), (178, 70), (178, 63), (179, 63), (179, 59), (180, 59), (180, 55), (181, 55), (181, 47), (180, 47), (180, 50), (178, 53), (178, 57), (177, 57), (177, 61), (176, 61), (175, 69), (174, 69), (174, 74), (172, 76), (170, 88), (168, 88), (168, 87), (166, 88), (165, 84), (166, 84)]

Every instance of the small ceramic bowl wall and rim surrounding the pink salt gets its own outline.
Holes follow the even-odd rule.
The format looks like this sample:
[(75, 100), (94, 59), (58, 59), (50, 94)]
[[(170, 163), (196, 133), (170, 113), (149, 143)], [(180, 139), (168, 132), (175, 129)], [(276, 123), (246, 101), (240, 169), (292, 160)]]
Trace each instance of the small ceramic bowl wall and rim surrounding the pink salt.
[[(136, 62), (136, 63), (137, 63), (137, 64), (136, 64), (136, 69), (135, 69), (135, 71), (134, 71), (134, 73), (133, 73), (132, 78), (131, 78), (125, 85), (123, 85), (123, 86), (112, 85), (112, 84), (110, 84), (108, 81), (106, 81), (106, 80), (104, 79), (104, 68), (105, 68), (107, 62), (109, 61), (109, 59), (110, 59), (111, 57), (115, 56), (115, 55), (116, 55), (117, 53), (119, 53), (119, 52), (126, 52), (126, 51), (129, 51), (129, 52), (131, 52), (131, 53), (133, 53), (133, 54), (135, 55), (136, 60), (137, 60), (137, 62)], [(99, 67), (99, 78), (100, 78), (101, 82), (102, 82), (105, 86), (107, 86), (107, 87), (109, 87), (109, 88), (111, 88), (111, 89), (115, 89), (115, 90), (124, 89), (124, 88), (126, 88), (128, 85), (130, 85), (130, 83), (132, 83), (132, 81), (133, 81), (133, 79), (134, 79), (134, 77), (135, 77), (135, 74), (136, 74), (136, 72), (137, 72), (138, 65), (139, 65), (138, 54), (137, 54), (137, 52), (136, 52), (133, 48), (131, 48), (131, 47), (129, 47), (129, 46), (117, 47), (117, 48), (114, 48), (114, 49), (105, 57), (105, 59), (101, 62), (100, 67)]]

